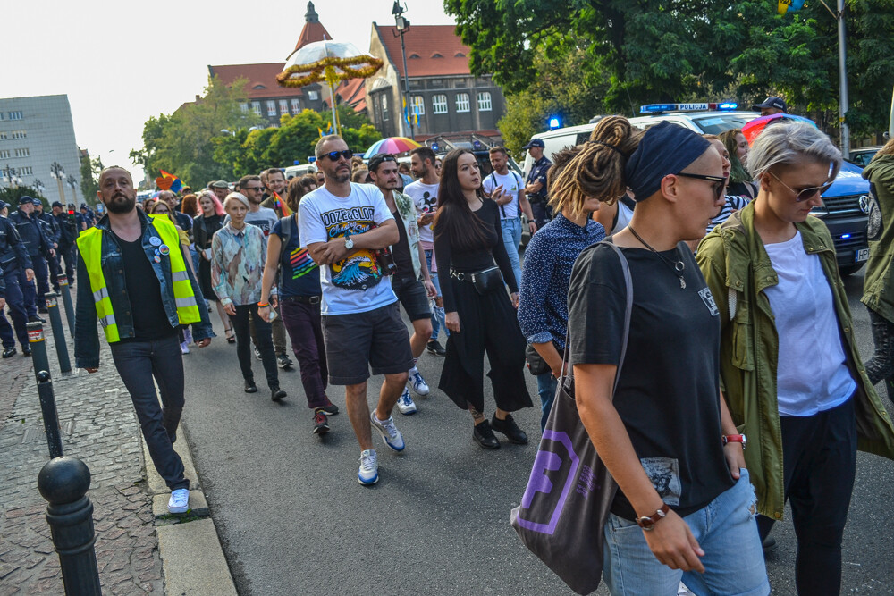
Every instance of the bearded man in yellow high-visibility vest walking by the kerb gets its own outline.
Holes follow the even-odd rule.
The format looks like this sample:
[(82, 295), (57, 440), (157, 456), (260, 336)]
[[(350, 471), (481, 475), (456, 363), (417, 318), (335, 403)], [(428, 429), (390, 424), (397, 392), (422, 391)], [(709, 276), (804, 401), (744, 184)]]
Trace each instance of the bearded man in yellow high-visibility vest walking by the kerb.
[[(107, 214), (77, 240), (76, 365), (88, 373), (99, 368), (98, 319), (115, 368), (131, 394), (152, 462), (172, 491), (168, 510), (185, 513), (190, 508), (190, 481), (173, 450), (184, 405), (177, 328), (192, 323), (198, 347), (210, 343), (214, 332), (205, 299), (173, 223), (137, 209), (130, 172), (119, 166), (105, 168), (97, 196)], [(161, 390), (161, 407), (153, 377)]]

